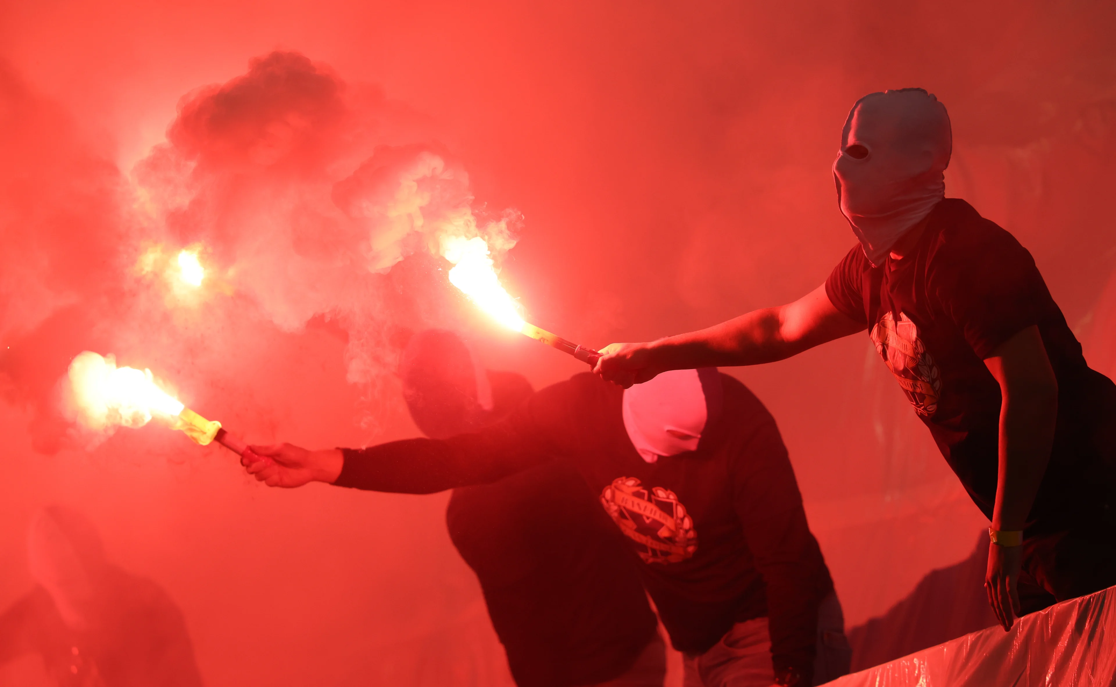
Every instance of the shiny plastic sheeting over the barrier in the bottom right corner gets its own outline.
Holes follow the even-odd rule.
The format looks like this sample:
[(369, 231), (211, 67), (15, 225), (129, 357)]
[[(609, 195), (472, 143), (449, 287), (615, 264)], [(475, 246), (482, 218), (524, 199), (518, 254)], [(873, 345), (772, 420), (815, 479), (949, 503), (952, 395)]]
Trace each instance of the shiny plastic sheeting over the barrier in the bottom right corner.
[(831, 687), (1116, 685), (1116, 586), (828, 683)]

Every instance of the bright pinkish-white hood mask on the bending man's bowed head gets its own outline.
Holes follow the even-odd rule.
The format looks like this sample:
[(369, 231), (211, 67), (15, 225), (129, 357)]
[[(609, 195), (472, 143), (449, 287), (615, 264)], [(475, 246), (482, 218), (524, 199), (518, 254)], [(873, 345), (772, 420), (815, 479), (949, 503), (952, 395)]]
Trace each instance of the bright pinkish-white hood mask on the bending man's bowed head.
[(721, 417), (716, 368), (672, 370), (624, 390), (624, 429), (647, 462), (698, 450)]

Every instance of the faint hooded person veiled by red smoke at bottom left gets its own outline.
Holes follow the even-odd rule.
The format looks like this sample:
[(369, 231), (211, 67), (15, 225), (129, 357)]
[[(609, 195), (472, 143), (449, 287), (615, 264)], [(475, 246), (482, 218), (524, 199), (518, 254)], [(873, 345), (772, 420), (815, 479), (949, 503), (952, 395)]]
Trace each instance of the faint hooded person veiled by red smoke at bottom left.
[(182, 612), (157, 584), (105, 560), (96, 528), (60, 506), (28, 531), (37, 585), (0, 614), (0, 664), (37, 653), (67, 687), (198, 687)]

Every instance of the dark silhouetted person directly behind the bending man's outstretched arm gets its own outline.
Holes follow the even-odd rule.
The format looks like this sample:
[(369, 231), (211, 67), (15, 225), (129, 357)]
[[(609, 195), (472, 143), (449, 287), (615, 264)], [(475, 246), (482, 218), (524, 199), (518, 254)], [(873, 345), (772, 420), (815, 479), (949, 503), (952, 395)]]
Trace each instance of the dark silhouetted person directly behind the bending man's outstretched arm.
[[(433, 439), (491, 424), (531, 395), (526, 379), (481, 369), (445, 331), (412, 336), (400, 376)], [(519, 687), (662, 687), (666, 648), (637, 561), (573, 465), (454, 489), (445, 521)]]

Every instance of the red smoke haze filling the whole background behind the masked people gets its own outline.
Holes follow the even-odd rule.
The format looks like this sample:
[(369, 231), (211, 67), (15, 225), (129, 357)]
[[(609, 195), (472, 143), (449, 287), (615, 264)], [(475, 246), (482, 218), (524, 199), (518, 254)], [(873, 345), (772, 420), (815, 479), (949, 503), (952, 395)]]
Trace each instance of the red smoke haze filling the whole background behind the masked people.
[[(209, 685), (499, 684), (443, 496), (268, 490), (156, 426), (90, 438), (58, 412), (69, 359), (150, 366), (252, 441), (414, 436), (408, 330), (459, 328), (536, 385), (580, 370), (448, 285), (446, 227), (589, 345), (786, 302), (854, 241), (829, 166), (872, 90), (945, 103), (947, 195), (1031, 249), (1116, 365), (1114, 30), (1103, 3), (6, 3), (0, 607), (30, 585), (30, 514), (66, 503), (166, 586)], [(137, 268), (196, 244), (196, 294)], [(981, 517), (867, 337), (735, 373), (850, 624), (969, 553)]]

